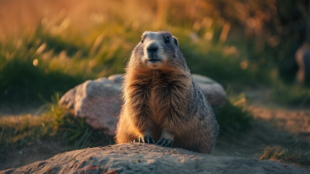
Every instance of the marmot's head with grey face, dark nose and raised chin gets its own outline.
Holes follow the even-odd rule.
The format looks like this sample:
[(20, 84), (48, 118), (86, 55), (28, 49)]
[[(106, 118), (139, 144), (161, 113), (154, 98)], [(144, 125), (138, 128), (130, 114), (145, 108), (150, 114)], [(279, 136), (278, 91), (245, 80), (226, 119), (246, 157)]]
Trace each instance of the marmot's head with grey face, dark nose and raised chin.
[(140, 43), (132, 51), (131, 61), (150, 69), (165, 69), (178, 65), (187, 67), (177, 38), (166, 31), (144, 32)]

